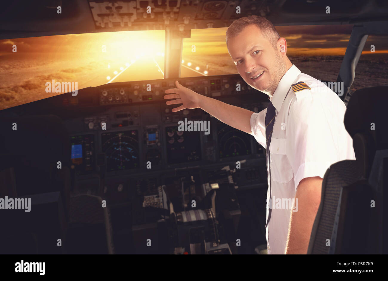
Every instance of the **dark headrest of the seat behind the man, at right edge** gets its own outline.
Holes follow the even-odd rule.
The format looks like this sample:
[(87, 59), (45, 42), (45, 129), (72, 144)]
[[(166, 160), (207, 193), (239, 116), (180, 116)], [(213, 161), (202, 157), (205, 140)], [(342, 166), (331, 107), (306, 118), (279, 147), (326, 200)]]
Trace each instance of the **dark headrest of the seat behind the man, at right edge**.
[(388, 86), (357, 90), (348, 103), (344, 124), (353, 138), (355, 134), (370, 136), (376, 150), (388, 148)]

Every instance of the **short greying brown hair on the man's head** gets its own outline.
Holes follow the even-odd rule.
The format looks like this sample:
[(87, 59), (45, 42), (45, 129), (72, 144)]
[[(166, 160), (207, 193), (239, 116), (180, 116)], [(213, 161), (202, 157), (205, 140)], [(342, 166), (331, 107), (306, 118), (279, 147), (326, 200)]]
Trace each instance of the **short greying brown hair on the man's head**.
[(232, 24), (230, 24), (229, 28), (226, 31), (226, 45), (228, 46), (228, 40), (230, 37), (237, 36), (242, 31), (242, 29), (246, 28), (251, 24), (255, 24), (258, 28), (260, 28), (264, 38), (267, 39), (274, 48), (276, 48), (276, 43), (277, 40), (279, 40), (280, 35), (277, 32), (275, 26), (265, 17), (255, 15), (241, 17), (232, 22)]

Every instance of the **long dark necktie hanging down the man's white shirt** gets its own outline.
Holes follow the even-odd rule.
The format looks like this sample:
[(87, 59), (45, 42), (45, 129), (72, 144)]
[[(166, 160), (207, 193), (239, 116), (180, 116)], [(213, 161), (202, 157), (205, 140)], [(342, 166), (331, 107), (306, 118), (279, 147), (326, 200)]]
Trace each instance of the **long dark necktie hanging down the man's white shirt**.
[[(272, 130), (274, 128), (274, 123), (275, 123), (275, 115), (276, 115), (276, 109), (272, 102), (268, 104), (267, 107), (267, 113), (265, 114), (265, 158), (267, 160), (267, 181), (268, 181), (268, 187), (269, 187), (269, 198), (272, 200), (271, 196), (271, 169), (270, 169), (270, 152), (269, 152), (269, 145), (271, 143), (271, 138), (272, 138)], [(269, 202), (267, 202), (269, 204)], [(274, 203), (274, 202), (271, 202)], [(271, 218), (271, 210), (272, 210), (272, 204), (269, 205), (269, 210), (268, 210), (268, 219), (265, 224), (265, 228), (267, 228), (269, 219)]]

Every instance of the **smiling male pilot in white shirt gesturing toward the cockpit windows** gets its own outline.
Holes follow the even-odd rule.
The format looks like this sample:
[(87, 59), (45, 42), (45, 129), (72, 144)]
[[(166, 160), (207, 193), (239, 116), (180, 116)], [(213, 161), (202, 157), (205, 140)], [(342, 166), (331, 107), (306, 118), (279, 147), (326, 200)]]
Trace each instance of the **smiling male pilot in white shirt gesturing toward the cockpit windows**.
[(343, 123), (346, 106), (324, 83), (291, 63), (286, 39), (267, 19), (235, 20), (226, 31), (226, 44), (242, 79), (268, 95), (268, 107), (255, 113), (199, 95), (178, 81), (177, 88), (165, 91), (165, 99), (175, 98), (166, 104), (182, 104), (173, 112), (201, 108), (255, 137), (267, 158), (268, 254), (305, 254), (326, 169), (355, 159)]

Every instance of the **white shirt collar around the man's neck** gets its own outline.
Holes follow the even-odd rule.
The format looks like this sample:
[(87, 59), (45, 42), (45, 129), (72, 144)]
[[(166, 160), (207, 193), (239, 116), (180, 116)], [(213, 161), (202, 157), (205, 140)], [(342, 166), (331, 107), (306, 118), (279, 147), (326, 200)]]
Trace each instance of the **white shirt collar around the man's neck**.
[(294, 64), (288, 69), (288, 71), (284, 74), (282, 79), (280, 79), (279, 84), (277, 84), (276, 90), (270, 101), (274, 105), (277, 111), (280, 111), (284, 98), (291, 88), (291, 85), (298, 78), (301, 71)]

